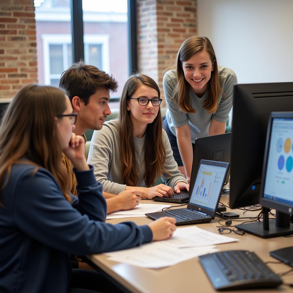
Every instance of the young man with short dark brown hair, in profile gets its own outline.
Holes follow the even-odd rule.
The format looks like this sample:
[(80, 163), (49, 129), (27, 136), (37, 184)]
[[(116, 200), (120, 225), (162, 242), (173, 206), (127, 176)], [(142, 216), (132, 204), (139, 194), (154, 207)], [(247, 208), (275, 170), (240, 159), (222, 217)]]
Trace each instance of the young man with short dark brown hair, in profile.
[[(62, 73), (59, 87), (65, 90), (74, 112), (78, 113), (73, 132), (82, 135), (86, 141), (84, 132), (87, 129), (100, 130), (107, 115), (111, 114), (110, 91), (117, 90), (117, 81), (97, 67), (80, 61)], [(65, 155), (62, 163), (69, 174), (71, 193), (77, 195), (72, 163)], [(133, 209), (141, 200), (141, 192), (135, 190), (125, 190), (118, 195), (103, 192), (103, 195), (107, 202), (107, 213)]]

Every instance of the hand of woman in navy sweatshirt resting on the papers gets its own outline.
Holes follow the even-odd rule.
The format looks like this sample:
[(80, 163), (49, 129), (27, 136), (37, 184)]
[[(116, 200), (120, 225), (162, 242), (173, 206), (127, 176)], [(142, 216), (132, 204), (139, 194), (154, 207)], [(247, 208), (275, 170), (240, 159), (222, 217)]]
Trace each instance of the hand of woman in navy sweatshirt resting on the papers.
[(176, 219), (171, 217), (162, 217), (149, 224), (153, 233), (153, 241), (170, 238), (176, 230), (175, 224)]

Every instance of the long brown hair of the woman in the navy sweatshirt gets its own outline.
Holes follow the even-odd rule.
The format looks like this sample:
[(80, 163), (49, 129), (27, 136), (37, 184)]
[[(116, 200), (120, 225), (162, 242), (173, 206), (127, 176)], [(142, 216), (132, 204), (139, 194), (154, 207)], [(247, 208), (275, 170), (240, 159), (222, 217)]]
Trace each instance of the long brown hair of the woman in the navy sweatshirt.
[[(61, 165), (62, 149), (54, 117), (66, 110), (65, 93), (52, 86), (29, 84), (13, 98), (0, 127), (1, 190), (8, 183), (15, 163), (30, 163), (50, 171), (70, 202), (66, 178)], [(5, 182), (3, 182), (4, 176)]]

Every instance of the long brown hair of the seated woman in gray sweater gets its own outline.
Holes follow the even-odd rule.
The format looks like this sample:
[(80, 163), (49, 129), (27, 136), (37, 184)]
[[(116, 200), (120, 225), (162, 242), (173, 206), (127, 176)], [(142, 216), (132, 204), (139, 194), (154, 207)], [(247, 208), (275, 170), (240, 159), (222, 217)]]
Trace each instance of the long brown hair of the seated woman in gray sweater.
[[(156, 82), (144, 74), (135, 74), (126, 81), (120, 99), (120, 158), (122, 162), (122, 178), (126, 185), (135, 186), (138, 183), (139, 166), (135, 159), (133, 140), (133, 127), (130, 113), (127, 111), (127, 99), (132, 97), (137, 88), (146, 85), (154, 88), (160, 98), (160, 89)], [(147, 187), (155, 184), (158, 175), (162, 176), (163, 164), (166, 159), (166, 150), (163, 144), (163, 122), (159, 109), (157, 117), (147, 125), (146, 140), (144, 144), (145, 174), (144, 182)]]

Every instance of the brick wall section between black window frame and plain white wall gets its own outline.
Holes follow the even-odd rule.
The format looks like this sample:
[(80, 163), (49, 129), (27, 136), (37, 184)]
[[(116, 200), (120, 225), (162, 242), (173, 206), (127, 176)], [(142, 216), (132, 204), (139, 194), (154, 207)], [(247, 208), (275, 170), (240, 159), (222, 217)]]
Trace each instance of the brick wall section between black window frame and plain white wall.
[(137, 0), (138, 68), (159, 84), (162, 97), (163, 71), (181, 43), (196, 35), (196, 23), (196, 0)]

